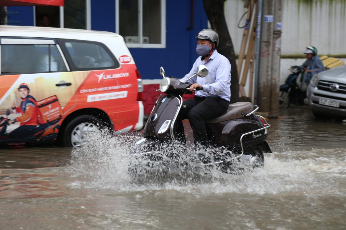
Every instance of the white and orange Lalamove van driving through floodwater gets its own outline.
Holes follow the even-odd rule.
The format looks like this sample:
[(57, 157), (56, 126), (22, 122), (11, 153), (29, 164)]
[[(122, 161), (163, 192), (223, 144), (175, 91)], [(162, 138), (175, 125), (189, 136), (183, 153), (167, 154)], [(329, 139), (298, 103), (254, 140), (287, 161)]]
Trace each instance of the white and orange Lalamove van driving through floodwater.
[(143, 127), (143, 84), (111, 32), (0, 26), (0, 143), (58, 140)]

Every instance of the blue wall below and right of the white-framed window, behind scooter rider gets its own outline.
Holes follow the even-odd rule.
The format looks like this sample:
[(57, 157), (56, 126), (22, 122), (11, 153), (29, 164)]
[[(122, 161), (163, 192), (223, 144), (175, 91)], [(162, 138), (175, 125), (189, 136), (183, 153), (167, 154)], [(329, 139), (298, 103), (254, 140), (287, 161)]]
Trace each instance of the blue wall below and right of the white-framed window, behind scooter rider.
[(194, 37), (207, 28), (207, 16), (203, 2), (194, 1), (193, 27), (190, 26), (190, 1), (166, 1), (166, 48), (134, 49), (130, 51), (143, 79), (160, 79), (159, 68), (163, 66), (167, 76), (182, 78), (198, 58), (197, 41)]

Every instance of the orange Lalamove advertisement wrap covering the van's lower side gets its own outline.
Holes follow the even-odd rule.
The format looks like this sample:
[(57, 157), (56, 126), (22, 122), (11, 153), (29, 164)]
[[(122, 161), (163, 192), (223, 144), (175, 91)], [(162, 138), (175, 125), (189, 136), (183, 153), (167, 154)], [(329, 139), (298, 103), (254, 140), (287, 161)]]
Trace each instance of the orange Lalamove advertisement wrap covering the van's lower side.
[(140, 115), (135, 69), (135, 64), (127, 64), (118, 69), (0, 76), (0, 117), (10, 121), (0, 124), (0, 138), (57, 137), (64, 119), (86, 108), (106, 113), (115, 131), (134, 130)]

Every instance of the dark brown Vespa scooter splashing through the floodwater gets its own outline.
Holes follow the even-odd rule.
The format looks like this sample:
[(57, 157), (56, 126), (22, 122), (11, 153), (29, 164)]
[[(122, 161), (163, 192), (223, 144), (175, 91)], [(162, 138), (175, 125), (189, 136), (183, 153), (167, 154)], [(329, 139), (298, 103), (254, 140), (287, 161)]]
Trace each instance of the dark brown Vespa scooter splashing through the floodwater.
[[(187, 165), (191, 162), (175, 161), (179, 158), (179, 154), (189, 154), (186, 152), (187, 147), (182, 146), (181, 148), (186, 149), (180, 152), (166, 147), (172, 143), (179, 143), (177, 141), (179, 133), (175, 131), (175, 121), (183, 105), (182, 95), (192, 93), (189, 90), (191, 84), (188, 81), (196, 75), (207, 76), (208, 68), (204, 65), (199, 66), (197, 73), (185, 83), (175, 77), (166, 77), (162, 67), (160, 73), (163, 77), (160, 91), (166, 95), (161, 94), (158, 97), (145, 125), (144, 139), (135, 144), (135, 152), (132, 156), (137, 162), (141, 160), (163, 162), (161, 164), (163, 167), (168, 167), (172, 162)], [(202, 89), (199, 87), (196, 90)], [(263, 153), (271, 152), (266, 142), (267, 128), (270, 127), (270, 124), (263, 117), (255, 114), (257, 109), (258, 106), (250, 102), (236, 102), (230, 104), (227, 112), (222, 116), (206, 121), (212, 150), (205, 151), (203, 154), (199, 152), (198, 157), (192, 154), (194, 157), (189, 159), (205, 167), (216, 166), (225, 172), (228, 172), (235, 162), (250, 168), (262, 166), (264, 164)], [(226, 151), (221, 153), (220, 149)], [(129, 171), (135, 174), (141, 173), (139, 165), (140, 163), (132, 162)], [(147, 163), (146, 166), (150, 168), (154, 167), (154, 164)]]

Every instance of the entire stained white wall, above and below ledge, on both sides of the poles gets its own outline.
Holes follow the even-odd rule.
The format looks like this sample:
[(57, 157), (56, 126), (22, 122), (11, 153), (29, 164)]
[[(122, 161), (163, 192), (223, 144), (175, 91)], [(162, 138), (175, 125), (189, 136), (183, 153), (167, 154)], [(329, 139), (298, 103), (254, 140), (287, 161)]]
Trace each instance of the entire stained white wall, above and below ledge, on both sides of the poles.
[[(263, 0), (264, 2), (266, 0)], [(346, 56), (346, 0), (282, 0), (281, 55), (300, 56), (307, 46), (315, 46), (320, 55)], [(225, 17), (236, 54), (244, 29), (238, 21), (247, 11), (244, 0), (227, 0)], [(244, 26), (245, 17), (240, 22)], [(346, 58), (341, 58), (346, 63)], [(290, 74), (290, 66), (301, 65), (304, 58), (281, 58), (280, 84)], [(248, 78), (249, 79), (249, 78)], [(248, 81), (245, 90), (248, 90)]]

